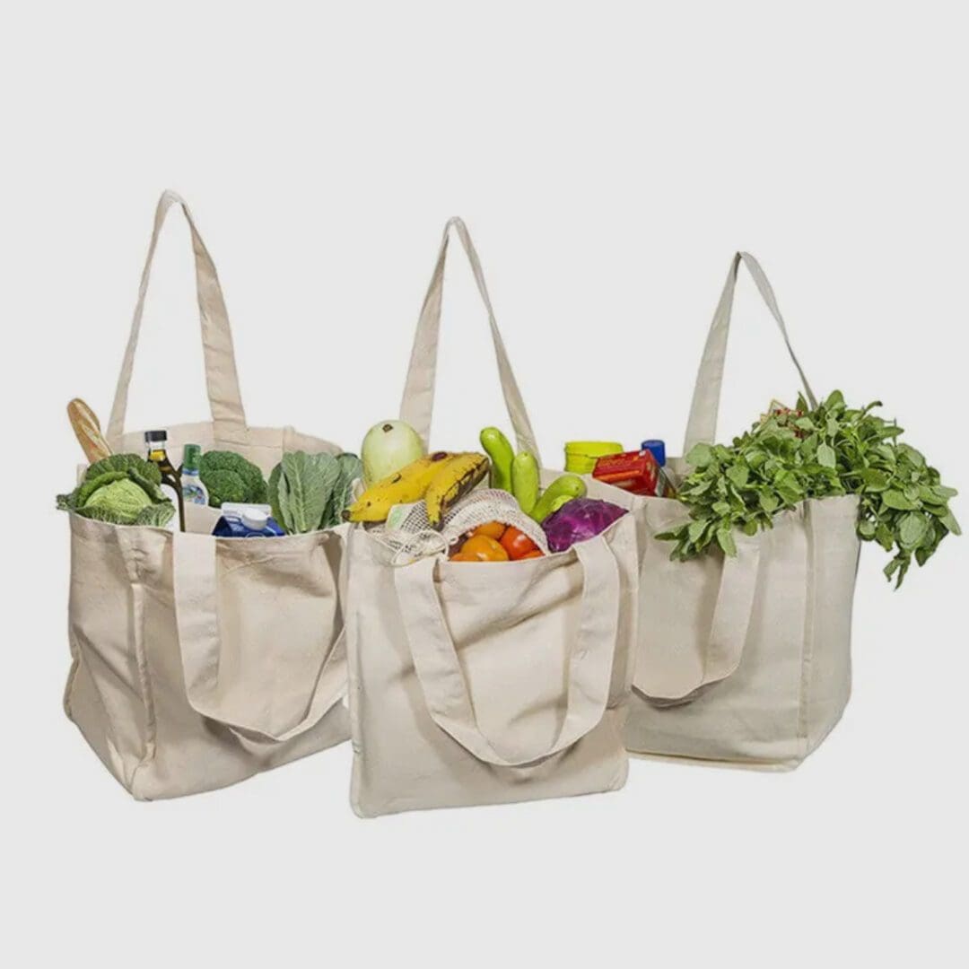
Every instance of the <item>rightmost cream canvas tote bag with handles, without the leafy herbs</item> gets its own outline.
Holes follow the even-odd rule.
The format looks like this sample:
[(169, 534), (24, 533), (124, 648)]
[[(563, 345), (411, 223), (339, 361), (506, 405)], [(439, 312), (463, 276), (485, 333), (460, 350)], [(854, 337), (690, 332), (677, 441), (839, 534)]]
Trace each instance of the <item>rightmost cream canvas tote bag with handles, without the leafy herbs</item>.
[[(741, 263), (815, 403), (764, 270), (753, 256), (737, 253), (703, 351), (684, 453), (716, 434)], [(681, 458), (672, 467), (689, 471)], [(683, 506), (666, 498), (638, 501), (641, 622), (629, 750), (796, 766), (848, 702), (857, 497), (804, 501), (775, 517), (772, 529), (752, 537), (735, 531), (735, 558), (718, 549), (689, 562), (672, 562), (672, 543), (655, 537), (687, 520)]]

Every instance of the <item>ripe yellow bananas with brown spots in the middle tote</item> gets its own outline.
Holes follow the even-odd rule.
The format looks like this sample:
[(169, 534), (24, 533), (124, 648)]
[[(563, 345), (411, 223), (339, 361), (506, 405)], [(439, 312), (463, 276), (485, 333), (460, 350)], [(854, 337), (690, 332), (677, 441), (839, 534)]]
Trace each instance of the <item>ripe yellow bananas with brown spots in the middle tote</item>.
[(394, 505), (420, 501), (437, 528), (445, 513), (485, 479), (488, 459), (475, 452), (438, 451), (370, 485), (344, 513), (348, 521), (386, 521)]

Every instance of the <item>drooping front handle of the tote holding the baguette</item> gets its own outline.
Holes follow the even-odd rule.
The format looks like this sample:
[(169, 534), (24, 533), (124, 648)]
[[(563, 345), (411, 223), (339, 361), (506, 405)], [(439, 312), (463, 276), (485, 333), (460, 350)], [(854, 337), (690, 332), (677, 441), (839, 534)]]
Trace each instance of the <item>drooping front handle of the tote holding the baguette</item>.
[(192, 708), (203, 717), (223, 724), (235, 735), (249, 741), (284, 743), (315, 727), (346, 694), (345, 631), (341, 630), (333, 641), (327, 658), (317, 673), (312, 696), (302, 716), (288, 730), (272, 732), (258, 722), (258, 697), (253, 698), (251, 716), (245, 719), (228, 718), (222, 712), (218, 700), (221, 637), (216, 543), (211, 535), (193, 532), (174, 532), (172, 543), (175, 622), (185, 693)]

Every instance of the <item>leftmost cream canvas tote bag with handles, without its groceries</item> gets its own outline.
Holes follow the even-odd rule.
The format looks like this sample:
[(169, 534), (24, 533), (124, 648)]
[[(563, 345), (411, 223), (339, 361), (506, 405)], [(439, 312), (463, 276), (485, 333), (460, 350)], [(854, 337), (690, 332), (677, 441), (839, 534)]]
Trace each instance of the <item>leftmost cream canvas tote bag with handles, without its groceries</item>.
[[(192, 442), (241, 453), (267, 473), (284, 451), (339, 453), (291, 427), (246, 424), (215, 266), (171, 192), (155, 214), (111, 450), (143, 453), (143, 432), (124, 433), (128, 386), (158, 235), (175, 204), (195, 254), (211, 421), (168, 427), (172, 454)], [(217, 539), (217, 510), (186, 506), (186, 517), (188, 530), (172, 533), (71, 516), (65, 709), (140, 799), (223, 787), (349, 736), (339, 530)]]

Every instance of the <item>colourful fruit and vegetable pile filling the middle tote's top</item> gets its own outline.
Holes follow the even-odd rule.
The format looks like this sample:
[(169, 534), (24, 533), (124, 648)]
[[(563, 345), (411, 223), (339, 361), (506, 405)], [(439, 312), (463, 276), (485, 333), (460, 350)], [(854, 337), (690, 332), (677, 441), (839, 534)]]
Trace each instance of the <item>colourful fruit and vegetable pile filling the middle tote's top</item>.
[[(345, 516), (369, 525), (388, 522), (392, 529), (397, 527), (396, 522), (407, 521), (409, 510), (422, 502), (427, 523), (440, 530), (445, 517), (489, 477), (492, 489), (508, 492), (516, 499), (517, 510), (507, 514), (510, 518), (517, 516), (521, 527), (512, 520), (478, 525), (453, 541), (451, 558), (455, 562), (507, 562), (545, 554), (522, 531), (526, 523), (534, 527), (528, 517), (547, 533), (551, 529), (549, 547), (561, 551), (598, 535), (616, 517), (625, 514), (624, 509), (609, 502), (586, 499), (585, 483), (576, 475), (561, 475), (543, 492), (535, 455), (515, 453), (498, 428), (485, 427), (480, 440), (487, 456), (446, 451), (424, 454), (419, 435), (406, 423), (376, 424), (367, 433), (361, 449), (367, 486)], [(577, 514), (567, 514), (577, 502), (581, 502)]]

